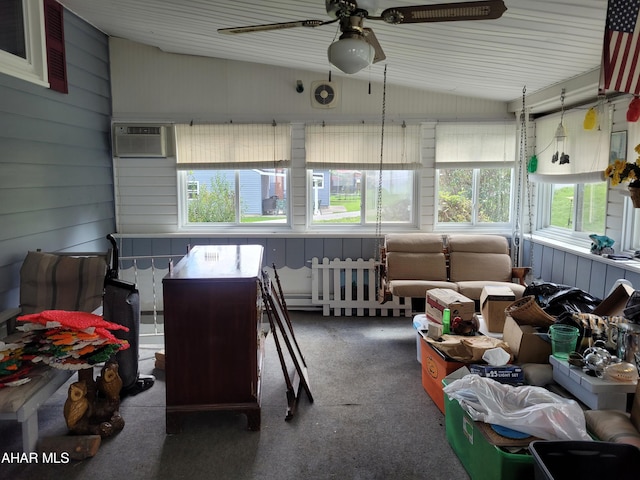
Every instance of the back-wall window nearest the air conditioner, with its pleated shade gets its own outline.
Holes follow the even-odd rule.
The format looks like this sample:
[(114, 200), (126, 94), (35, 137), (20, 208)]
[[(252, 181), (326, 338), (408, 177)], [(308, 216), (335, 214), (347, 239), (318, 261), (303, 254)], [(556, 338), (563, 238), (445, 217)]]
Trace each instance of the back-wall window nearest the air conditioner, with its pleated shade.
[(286, 225), (289, 126), (176, 125), (183, 227)]

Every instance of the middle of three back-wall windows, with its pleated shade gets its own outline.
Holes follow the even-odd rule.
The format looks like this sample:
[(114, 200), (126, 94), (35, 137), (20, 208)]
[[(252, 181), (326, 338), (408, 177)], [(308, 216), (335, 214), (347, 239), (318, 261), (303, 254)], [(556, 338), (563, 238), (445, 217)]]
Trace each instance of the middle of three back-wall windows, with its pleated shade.
[(381, 203), (381, 223), (414, 225), (419, 133), (405, 124), (307, 125), (310, 223), (374, 226)]

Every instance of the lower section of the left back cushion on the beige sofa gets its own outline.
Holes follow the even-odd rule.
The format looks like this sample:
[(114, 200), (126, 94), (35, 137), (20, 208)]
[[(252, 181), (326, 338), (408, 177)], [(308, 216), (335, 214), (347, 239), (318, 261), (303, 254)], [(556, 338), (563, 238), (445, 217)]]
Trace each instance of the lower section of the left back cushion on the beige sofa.
[(444, 253), (387, 253), (387, 280), (447, 280)]

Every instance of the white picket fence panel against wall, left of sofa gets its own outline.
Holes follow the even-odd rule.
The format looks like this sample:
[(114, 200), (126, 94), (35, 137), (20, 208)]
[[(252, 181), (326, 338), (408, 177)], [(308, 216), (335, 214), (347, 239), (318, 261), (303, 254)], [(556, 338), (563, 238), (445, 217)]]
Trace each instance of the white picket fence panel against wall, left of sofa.
[(411, 299), (394, 296), (380, 304), (376, 297), (376, 261), (311, 260), (311, 303), (327, 317), (411, 316)]

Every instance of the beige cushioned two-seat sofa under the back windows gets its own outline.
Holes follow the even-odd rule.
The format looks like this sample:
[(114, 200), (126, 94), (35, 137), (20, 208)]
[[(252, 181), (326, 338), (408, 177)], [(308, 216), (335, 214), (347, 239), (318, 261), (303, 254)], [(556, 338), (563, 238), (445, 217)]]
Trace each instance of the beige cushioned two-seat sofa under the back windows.
[(518, 299), (528, 271), (511, 266), (509, 244), (500, 235), (389, 234), (381, 259), (384, 298), (425, 298), (427, 290), (450, 288), (478, 301), (485, 286), (505, 285)]

